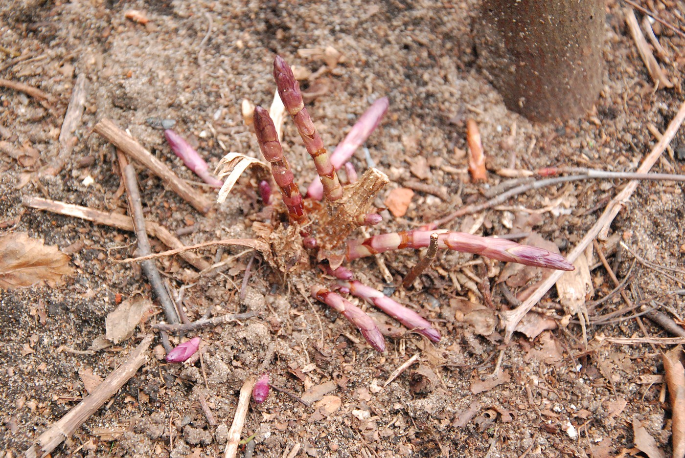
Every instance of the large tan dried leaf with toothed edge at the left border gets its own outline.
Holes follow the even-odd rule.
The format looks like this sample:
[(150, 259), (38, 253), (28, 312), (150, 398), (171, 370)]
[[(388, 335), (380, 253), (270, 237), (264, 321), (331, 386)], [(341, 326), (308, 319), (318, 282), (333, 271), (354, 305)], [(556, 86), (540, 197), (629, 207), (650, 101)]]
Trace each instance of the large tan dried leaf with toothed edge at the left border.
[(0, 236), (0, 289), (22, 288), (41, 281), (53, 288), (71, 275), (69, 256), (25, 232)]

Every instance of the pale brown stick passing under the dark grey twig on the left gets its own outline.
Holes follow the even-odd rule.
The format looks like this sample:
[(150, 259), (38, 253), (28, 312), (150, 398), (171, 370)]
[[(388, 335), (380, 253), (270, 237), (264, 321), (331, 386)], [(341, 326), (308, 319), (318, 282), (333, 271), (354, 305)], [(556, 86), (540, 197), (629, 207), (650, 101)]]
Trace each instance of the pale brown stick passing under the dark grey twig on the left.
[[(135, 231), (131, 218), (118, 213), (101, 212), (100, 210), (82, 207), (81, 205), (51, 201), (49, 199), (42, 199), (34, 196), (23, 196), (21, 198), (21, 205), (29, 208), (46, 210), (47, 212), (64, 216), (81, 218), (82, 220), (95, 222), (95, 224), (98, 225), (116, 227), (116, 229), (121, 229), (122, 231)], [(145, 231), (147, 231), (149, 236), (159, 239), (160, 242), (169, 246), (169, 248), (179, 249), (184, 247), (183, 242), (175, 238), (169, 229), (166, 229), (166, 227), (157, 222), (145, 220)], [(190, 251), (183, 251), (179, 255), (185, 259), (188, 264), (195, 266), (199, 270), (207, 270), (212, 267), (210, 263)]]

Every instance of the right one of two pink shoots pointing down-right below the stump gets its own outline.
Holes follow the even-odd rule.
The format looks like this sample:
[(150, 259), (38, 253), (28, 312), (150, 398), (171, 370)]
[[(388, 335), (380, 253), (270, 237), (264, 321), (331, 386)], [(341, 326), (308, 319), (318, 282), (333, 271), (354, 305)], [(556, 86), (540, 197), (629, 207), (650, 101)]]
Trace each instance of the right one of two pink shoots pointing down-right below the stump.
[(349, 291), (349, 294), (362, 298), (371, 303), (371, 305), (375, 305), (375, 307), (378, 307), (386, 314), (392, 316), (408, 329), (425, 335), (433, 342), (438, 342), (440, 340), (440, 333), (436, 331), (436, 329), (433, 329), (428, 320), (412, 309), (408, 309), (404, 305), (401, 305), (401, 303), (389, 298), (382, 292), (374, 290), (370, 286), (366, 286), (364, 283), (360, 283), (356, 280), (340, 281), (340, 285), (342, 285), (345, 290)]

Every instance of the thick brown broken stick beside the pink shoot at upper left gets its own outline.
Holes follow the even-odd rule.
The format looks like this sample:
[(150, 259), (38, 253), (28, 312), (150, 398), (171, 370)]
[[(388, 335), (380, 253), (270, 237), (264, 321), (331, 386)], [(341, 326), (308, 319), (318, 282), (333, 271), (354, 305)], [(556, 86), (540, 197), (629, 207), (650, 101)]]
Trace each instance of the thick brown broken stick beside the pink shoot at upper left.
[(109, 140), (115, 147), (149, 168), (152, 173), (164, 181), (165, 185), (168, 185), (171, 190), (195, 207), (197, 211), (201, 213), (210, 211), (211, 203), (203, 194), (191, 188), (188, 183), (173, 173), (171, 168), (151, 155), (147, 149), (143, 148), (132, 136), (119, 129), (111, 120), (104, 118), (93, 127), (93, 130)]

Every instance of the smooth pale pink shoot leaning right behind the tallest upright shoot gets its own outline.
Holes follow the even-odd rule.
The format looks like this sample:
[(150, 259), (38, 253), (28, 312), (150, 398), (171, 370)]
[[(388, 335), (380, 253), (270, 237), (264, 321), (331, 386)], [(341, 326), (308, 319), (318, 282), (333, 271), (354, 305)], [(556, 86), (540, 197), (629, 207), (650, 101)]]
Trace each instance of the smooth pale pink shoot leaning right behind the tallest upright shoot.
[[(382, 97), (373, 102), (352, 129), (349, 131), (345, 139), (338, 144), (335, 151), (331, 155), (331, 164), (336, 170), (340, 170), (343, 164), (347, 163), (357, 149), (362, 146), (367, 138), (378, 127), (384, 114), (388, 111), (388, 97)], [(349, 171), (348, 171), (349, 174)], [(349, 176), (349, 175), (348, 175)], [(352, 182), (350, 180), (350, 182)], [(321, 200), (323, 196), (323, 186), (321, 181), (314, 180), (307, 188), (307, 196), (317, 201)]]

